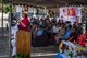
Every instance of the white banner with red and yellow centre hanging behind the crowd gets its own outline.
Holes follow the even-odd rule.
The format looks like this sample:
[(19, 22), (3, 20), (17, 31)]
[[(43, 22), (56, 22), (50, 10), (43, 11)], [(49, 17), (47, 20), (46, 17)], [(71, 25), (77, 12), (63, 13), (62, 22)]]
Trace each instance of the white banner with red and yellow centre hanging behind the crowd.
[(71, 21), (73, 24), (82, 23), (82, 8), (80, 7), (63, 7), (59, 9), (60, 11), (60, 20), (64, 22)]

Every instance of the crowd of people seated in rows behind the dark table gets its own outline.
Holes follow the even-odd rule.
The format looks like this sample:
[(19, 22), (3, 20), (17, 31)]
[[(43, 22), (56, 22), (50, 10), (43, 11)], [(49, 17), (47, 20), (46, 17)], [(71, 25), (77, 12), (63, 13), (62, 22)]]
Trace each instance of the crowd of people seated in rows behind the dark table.
[[(34, 36), (41, 36), (44, 33), (48, 35), (48, 44), (49, 40), (53, 44), (59, 44), (61, 40), (69, 40), (72, 43), (78, 43), (78, 39), (83, 34), (83, 24), (71, 22), (64, 22), (63, 20), (50, 20), (50, 19), (30, 19), (30, 31)], [(86, 35), (86, 33), (84, 33)], [(85, 40), (83, 40), (85, 43)], [(85, 46), (85, 45), (82, 45)]]

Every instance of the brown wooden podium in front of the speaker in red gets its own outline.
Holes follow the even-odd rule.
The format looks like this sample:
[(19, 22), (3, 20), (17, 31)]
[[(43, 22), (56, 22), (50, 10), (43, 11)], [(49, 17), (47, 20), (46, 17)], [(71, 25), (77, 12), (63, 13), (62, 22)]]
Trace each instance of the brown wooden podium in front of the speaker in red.
[(16, 35), (16, 53), (30, 54), (30, 32), (18, 31)]

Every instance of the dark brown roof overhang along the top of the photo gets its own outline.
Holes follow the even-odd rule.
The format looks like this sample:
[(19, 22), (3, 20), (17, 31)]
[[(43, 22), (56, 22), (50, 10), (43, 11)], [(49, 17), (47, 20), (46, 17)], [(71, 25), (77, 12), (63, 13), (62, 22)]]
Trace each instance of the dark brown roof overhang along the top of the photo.
[[(9, 0), (4, 0), (9, 1)], [(67, 4), (78, 4), (78, 3), (87, 3), (87, 0), (12, 0), (14, 4), (37, 4), (37, 5), (64, 5)]]

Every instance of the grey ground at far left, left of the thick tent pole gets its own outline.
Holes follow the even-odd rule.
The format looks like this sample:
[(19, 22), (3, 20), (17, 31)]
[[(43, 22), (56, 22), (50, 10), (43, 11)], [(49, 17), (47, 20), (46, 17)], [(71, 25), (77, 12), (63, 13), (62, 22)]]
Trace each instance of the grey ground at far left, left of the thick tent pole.
[(5, 58), (9, 56), (9, 36), (8, 31), (3, 30), (3, 38), (2, 38), (2, 31), (0, 28), (0, 58)]

